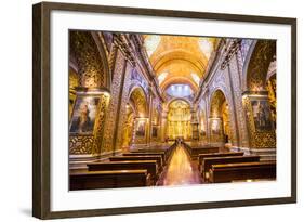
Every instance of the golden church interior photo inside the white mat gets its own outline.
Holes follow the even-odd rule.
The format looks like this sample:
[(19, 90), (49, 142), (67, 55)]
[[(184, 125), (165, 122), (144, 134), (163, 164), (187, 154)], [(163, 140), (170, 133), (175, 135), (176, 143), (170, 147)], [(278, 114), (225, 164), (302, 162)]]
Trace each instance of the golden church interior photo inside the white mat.
[(276, 41), (69, 30), (69, 190), (276, 180)]

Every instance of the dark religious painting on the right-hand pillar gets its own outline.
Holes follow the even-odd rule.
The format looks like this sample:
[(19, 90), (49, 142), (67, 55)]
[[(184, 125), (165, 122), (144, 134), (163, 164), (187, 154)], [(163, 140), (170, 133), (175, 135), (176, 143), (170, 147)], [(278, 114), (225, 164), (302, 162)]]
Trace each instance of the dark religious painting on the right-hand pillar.
[(256, 131), (269, 131), (273, 129), (270, 107), (267, 101), (251, 101), (254, 126)]

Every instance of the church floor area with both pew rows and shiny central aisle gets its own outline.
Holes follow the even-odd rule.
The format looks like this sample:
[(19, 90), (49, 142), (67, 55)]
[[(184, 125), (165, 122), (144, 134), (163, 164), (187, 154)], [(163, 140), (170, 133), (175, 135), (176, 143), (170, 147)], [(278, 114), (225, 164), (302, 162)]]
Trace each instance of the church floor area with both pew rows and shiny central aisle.
[[(215, 153), (214, 153), (215, 152)], [(133, 151), (70, 170), (70, 190), (171, 186), (275, 180), (276, 162), (219, 147), (170, 147)]]

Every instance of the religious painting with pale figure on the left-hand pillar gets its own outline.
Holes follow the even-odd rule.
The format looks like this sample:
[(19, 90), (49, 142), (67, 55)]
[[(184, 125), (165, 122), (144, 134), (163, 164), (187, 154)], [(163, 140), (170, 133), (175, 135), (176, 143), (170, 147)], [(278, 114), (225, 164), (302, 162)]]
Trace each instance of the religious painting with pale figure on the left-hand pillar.
[(98, 96), (78, 96), (74, 106), (69, 132), (71, 134), (92, 134), (95, 125)]

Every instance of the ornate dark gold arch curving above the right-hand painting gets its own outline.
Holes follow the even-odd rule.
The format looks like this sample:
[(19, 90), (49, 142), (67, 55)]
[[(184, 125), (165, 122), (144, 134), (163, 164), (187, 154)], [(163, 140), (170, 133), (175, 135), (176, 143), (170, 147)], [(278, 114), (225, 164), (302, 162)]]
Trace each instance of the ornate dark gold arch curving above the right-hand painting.
[(275, 40), (257, 40), (255, 43), (252, 43), (243, 68), (244, 90), (265, 90), (267, 71), (275, 55)]

